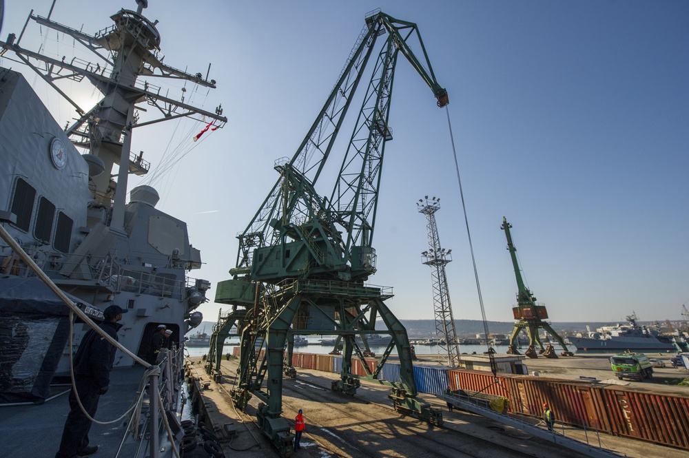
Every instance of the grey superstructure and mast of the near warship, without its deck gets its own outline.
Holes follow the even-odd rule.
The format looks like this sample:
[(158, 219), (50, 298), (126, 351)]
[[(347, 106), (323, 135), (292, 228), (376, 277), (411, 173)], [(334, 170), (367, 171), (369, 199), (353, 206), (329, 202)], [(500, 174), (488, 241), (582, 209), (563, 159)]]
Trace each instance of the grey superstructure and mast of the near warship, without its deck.
[[(102, 319), (101, 311), (112, 304), (127, 309), (119, 342), (141, 359), (150, 360), (154, 330), (165, 324), (172, 330), (166, 364), (178, 369), (183, 336), (202, 320), (195, 309), (205, 302), (210, 284), (187, 276), (201, 265), (200, 251), (189, 243), (187, 224), (156, 208), (159, 197), (153, 187), (135, 187), (127, 202), (128, 176), (150, 169), (141, 154), (132, 154), (132, 134), (138, 127), (174, 118), (194, 118), (200, 129), (222, 127), (227, 119), (220, 107), (207, 112), (164, 95), (154, 85), (156, 76), (205, 87), (214, 87), (215, 81), (163, 64), (157, 21), (143, 16), (147, 1), (136, 3), (136, 11), (120, 10), (111, 17), (114, 25), (95, 34), (52, 21), (50, 14), (30, 14), (27, 23), (74, 39), (93, 53), (92, 62), (26, 50), (21, 47), (24, 30), (19, 37), (10, 33), (0, 41), (4, 59), (35, 70), (77, 112), (76, 121), (63, 129), (22, 74), (0, 68), (0, 331), (12, 343), (19, 342), (17, 335), (28, 335), (22, 345), (12, 346), (12, 364), (3, 365), (0, 399), (5, 402), (49, 399), (54, 394), (51, 380), (68, 381), (71, 352), (88, 329), (78, 321), (70, 334), (67, 306), (48, 306), (42, 299), (45, 285), (26, 258), (12, 249), (12, 241), (90, 318)], [(61, 89), (61, 80), (88, 81), (102, 98), (94, 107), (83, 108)], [(154, 112), (151, 107), (159, 118), (149, 113), (143, 121), (139, 113)], [(118, 352), (113, 371), (134, 366), (133, 357)], [(123, 393), (125, 404), (137, 384), (134, 377), (132, 393)], [(177, 411), (178, 388), (176, 380), (167, 382), (167, 413)], [(48, 408), (52, 406), (46, 403)], [(5, 426), (10, 428), (3, 425), (3, 430)], [(159, 444), (154, 445), (151, 450), (158, 449)], [(42, 450), (31, 456), (44, 454)]]

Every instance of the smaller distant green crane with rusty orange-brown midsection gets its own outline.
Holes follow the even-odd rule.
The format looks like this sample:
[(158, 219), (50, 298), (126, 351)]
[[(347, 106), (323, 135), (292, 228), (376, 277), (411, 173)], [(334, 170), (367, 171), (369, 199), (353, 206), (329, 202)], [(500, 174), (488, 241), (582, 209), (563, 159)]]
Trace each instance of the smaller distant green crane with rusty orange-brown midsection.
[(507, 249), (510, 252), (510, 255), (512, 256), (512, 264), (514, 266), (515, 275), (517, 277), (517, 288), (519, 289), (519, 291), (517, 292), (517, 305), (513, 306), (512, 308), (512, 312), (515, 318), (515, 327), (512, 331), (512, 335), (510, 336), (509, 348), (507, 350), (507, 353), (509, 355), (520, 354), (517, 350), (516, 342), (520, 332), (524, 330), (528, 335), (528, 349), (524, 352), (524, 355), (531, 358), (538, 357), (535, 350), (535, 346), (536, 344), (538, 344), (538, 346), (541, 349), (541, 352), (545, 357), (556, 358), (557, 354), (553, 350), (553, 346), (551, 344), (548, 344), (547, 348), (545, 348), (540, 338), (538, 337), (538, 329), (542, 328), (548, 331), (548, 333), (552, 335), (553, 338), (557, 340), (557, 342), (560, 345), (562, 345), (562, 348), (564, 349), (564, 351), (562, 352), (563, 356), (572, 356), (573, 353), (568, 351), (567, 346), (564, 343), (564, 340), (562, 340), (562, 337), (557, 335), (557, 333), (553, 330), (551, 325), (544, 321), (548, 319), (548, 311), (546, 310), (546, 306), (544, 306), (543, 304), (537, 304), (534, 295), (524, 285), (524, 280), (522, 280), (522, 273), (520, 272), (519, 262), (517, 262), (517, 249), (515, 248), (512, 242), (512, 236), (510, 234), (511, 227), (512, 225), (508, 223), (506, 218), (503, 216), (502, 226), (500, 226), (500, 229), (505, 231), (505, 236), (507, 237)]

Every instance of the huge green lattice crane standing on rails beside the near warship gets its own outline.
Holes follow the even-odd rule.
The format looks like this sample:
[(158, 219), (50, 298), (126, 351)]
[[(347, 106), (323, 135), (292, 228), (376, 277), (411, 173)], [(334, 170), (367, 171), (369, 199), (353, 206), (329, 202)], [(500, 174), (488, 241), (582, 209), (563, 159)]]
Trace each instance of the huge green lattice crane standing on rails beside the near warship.
[[(379, 37), (387, 35), (377, 58), (371, 59)], [(411, 50), (420, 46), (423, 62)], [(352, 395), (360, 381), (391, 387), (389, 399), (400, 412), (431, 424), (442, 424), (440, 410), (417, 398), (412, 348), (407, 330), (386, 306), (391, 288), (364, 284), (376, 272), (373, 230), (376, 220), (385, 145), (389, 127), (393, 76), (402, 54), (426, 82), (439, 107), (448, 96), (435, 79), (415, 23), (400, 21), (376, 10), (351, 52), (333, 91), (291, 159), (278, 160), (280, 174), (256, 215), (238, 236), (233, 278), (218, 284), (216, 302), (232, 305), (218, 326), (233, 324), (241, 333), (240, 366), (232, 389), (236, 406), (245, 408), (252, 396), (260, 399), (258, 424), (283, 456), (291, 454), (288, 422), (282, 413), (282, 377), (294, 374), (291, 351), (294, 335), (338, 335), (342, 340), (342, 371), (333, 390)], [(345, 115), (369, 61), (375, 61), (349, 142), (336, 145)], [(318, 185), (326, 162), (345, 152), (329, 196)], [(319, 181), (320, 179), (320, 181)], [(380, 320), (385, 330), (376, 329)], [(367, 336), (390, 335), (387, 349), (373, 368)], [(216, 338), (207, 371), (218, 377), (223, 340)], [(285, 352), (285, 348), (287, 351)], [(381, 378), (393, 348), (400, 358), (399, 380)], [(287, 355), (285, 357), (285, 355)], [(351, 359), (358, 358), (366, 375), (355, 375)]]

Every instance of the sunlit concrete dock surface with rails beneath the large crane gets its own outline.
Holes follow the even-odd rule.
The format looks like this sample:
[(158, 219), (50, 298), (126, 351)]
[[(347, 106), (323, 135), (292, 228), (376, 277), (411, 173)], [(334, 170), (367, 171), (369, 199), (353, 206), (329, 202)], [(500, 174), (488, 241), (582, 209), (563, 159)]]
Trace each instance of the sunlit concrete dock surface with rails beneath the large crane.
[[(575, 360), (579, 360), (579, 362)], [(572, 371), (593, 371), (586, 366), (599, 365), (601, 358), (572, 358)], [(604, 359), (604, 358), (603, 358)], [(546, 367), (563, 366), (559, 360), (533, 360)], [(558, 363), (559, 361), (559, 363)], [(593, 362), (593, 363), (592, 363)], [(212, 382), (203, 371), (200, 358), (189, 360), (189, 374), (202, 388), (200, 395), (209, 419), (220, 438), (226, 456), (266, 457), (278, 452), (254, 424), (258, 400), (251, 399), (247, 412), (236, 410), (229, 397), (234, 386), (238, 362), (223, 361), (223, 380)], [(426, 364), (424, 362), (424, 364)], [(577, 368), (582, 366), (583, 368)], [(533, 364), (531, 365), (533, 366)], [(530, 370), (531, 370), (530, 366)], [(670, 368), (672, 369), (672, 368)], [(540, 369), (542, 371), (546, 369)], [(603, 371), (603, 369), (599, 369)], [(602, 373), (602, 372), (601, 372)], [(549, 375), (550, 376), (550, 375)], [(572, 375), (573, 376), (573, 375)], [(590, 375), (596, 377), (594, 375)], [(307, 422), (302, 448), (293, 457), (583, 457), (577, 452), (543, 441), (521, 430), (504, 426), (463, 411), (449, 413), (445, 403), (433, 395), (420, 395), (436, 408), (442, 408), (444, 424), (431, 428), (423, 421), (400, 415), (387, 399), (388, 388), (362, 383), (353, 397), (333, 393), (331, 381), (338, 375), (298, 369), (296, 379), (283, 380), (283, 416), (293, 419), (299, 408)], [(578, 376), (577, 376), (578, 378)], [(670, 387), (673, 388), (673, 387)], [(674, 387), (681, 388), (681, 387)], [(234, 439), (224, 433), (224, 426), (236, 430)], [(613, 450), (630, 458), (680, 458), (686, 450), (649, 444), (624, 437), (596, 435), (575, 428), (562, 431), (567, 437)]]

